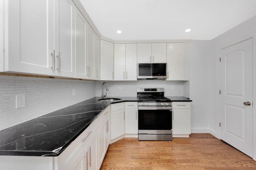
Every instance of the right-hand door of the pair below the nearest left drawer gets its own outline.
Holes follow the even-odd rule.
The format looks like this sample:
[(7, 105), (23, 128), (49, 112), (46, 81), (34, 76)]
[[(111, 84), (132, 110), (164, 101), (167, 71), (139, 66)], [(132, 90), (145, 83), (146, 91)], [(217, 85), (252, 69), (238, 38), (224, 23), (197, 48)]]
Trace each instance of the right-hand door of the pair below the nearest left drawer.
[(98, 170), (98, 136), (94, 133), (86, 144), (88, 170)]

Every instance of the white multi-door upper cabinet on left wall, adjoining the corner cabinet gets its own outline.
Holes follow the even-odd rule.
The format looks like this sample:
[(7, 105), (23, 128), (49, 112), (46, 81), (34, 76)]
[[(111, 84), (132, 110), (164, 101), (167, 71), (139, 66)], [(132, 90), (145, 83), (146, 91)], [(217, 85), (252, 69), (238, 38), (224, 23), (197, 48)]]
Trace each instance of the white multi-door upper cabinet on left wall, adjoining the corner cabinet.
[(99, 79), (100, 39), (76, 8), (76, 78)]

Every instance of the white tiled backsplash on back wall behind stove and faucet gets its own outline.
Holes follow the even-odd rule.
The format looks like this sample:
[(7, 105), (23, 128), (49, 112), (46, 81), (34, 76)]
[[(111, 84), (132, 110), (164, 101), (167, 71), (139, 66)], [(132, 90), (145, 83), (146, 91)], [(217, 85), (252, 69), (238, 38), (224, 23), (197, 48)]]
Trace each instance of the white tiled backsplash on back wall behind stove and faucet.
[[(182, 81), (165, 81), (165, 80), (138, 80), (138, 81), (106, 81), (108, 83), (107, 95), (108, 97), (122, 97), (122, 96), (137, 96), (137, 88), (164, 88), (165, 96), (182, 96), (183, 82)], [(103, 81), (96, 82), (96, 96), (102, 95)], [(119, 87), (122, 88), (119, 91)], [(171, 90), (173, 87), (173, 90)], [(104, 85), (104, 93), (106, 92), (106, 85)]]

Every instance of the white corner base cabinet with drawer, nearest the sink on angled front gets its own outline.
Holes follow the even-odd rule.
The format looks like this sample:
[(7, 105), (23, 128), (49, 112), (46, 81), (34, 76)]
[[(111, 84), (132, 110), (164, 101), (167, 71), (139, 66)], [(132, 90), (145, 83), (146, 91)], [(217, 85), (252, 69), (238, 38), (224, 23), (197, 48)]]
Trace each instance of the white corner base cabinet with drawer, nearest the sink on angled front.
[(111, 105), (111, 140), (125, 133), (124, 102)]

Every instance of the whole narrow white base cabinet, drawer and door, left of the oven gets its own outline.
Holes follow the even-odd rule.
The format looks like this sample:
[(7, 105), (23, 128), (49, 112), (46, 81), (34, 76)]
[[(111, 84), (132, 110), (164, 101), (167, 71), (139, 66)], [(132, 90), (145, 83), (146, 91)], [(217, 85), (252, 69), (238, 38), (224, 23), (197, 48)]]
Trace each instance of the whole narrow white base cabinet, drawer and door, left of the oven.
[(138, 102), (125, 102), (125, 134), (138, 134)]

